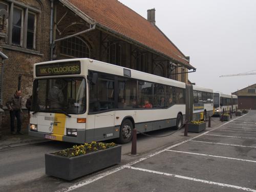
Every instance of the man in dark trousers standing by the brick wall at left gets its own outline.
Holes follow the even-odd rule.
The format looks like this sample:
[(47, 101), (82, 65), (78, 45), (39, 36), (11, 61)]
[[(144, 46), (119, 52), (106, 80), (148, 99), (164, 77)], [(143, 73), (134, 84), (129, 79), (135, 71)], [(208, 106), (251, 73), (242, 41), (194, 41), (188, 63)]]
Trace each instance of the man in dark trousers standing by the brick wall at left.
[[(10, 111), (11, 119), (11, 134), (23, 135), (20, 130), (22, 129), (22, 120), (20, 119), (20, 111), (22, 111), (22, 91), (16, 90), (14, 95), (6, 102), (6, 106)], [(17, 132), (14, 132), (14, 120), (17, 119)]]

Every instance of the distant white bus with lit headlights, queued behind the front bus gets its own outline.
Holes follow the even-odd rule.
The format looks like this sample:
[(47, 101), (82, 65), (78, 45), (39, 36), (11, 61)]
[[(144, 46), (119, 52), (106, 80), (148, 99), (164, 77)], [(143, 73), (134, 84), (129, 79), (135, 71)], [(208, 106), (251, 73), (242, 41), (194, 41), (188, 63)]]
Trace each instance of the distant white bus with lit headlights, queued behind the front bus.
[(238, 96), (214, 93), (214, 115), (235, 112), (238, 109)]

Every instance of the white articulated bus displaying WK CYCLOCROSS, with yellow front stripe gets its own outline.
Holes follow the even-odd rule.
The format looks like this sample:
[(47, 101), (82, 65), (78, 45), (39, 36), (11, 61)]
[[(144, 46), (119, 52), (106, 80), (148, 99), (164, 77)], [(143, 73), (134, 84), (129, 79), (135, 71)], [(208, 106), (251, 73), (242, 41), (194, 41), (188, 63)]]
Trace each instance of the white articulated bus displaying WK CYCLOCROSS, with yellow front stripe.
[(213, 91), (88, 58), (34, 65), (29, 134), (84, 143), (205, 119)]

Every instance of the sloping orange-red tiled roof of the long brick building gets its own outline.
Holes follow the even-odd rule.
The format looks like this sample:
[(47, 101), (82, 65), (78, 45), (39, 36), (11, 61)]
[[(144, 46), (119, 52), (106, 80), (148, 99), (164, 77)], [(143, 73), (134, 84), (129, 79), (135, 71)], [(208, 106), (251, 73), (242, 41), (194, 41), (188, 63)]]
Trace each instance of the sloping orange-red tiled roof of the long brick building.
[(117, 0), (67, 0), (96, 23), (194, 68), (164, 34)]

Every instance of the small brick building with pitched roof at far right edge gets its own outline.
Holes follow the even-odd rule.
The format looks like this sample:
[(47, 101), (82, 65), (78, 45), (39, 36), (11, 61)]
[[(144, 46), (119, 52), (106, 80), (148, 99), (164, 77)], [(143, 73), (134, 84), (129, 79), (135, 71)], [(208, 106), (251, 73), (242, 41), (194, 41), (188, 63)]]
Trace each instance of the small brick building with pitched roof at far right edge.
[(238, 109), (256, 110), (256, 84), (232, 94), (238, 96)]

